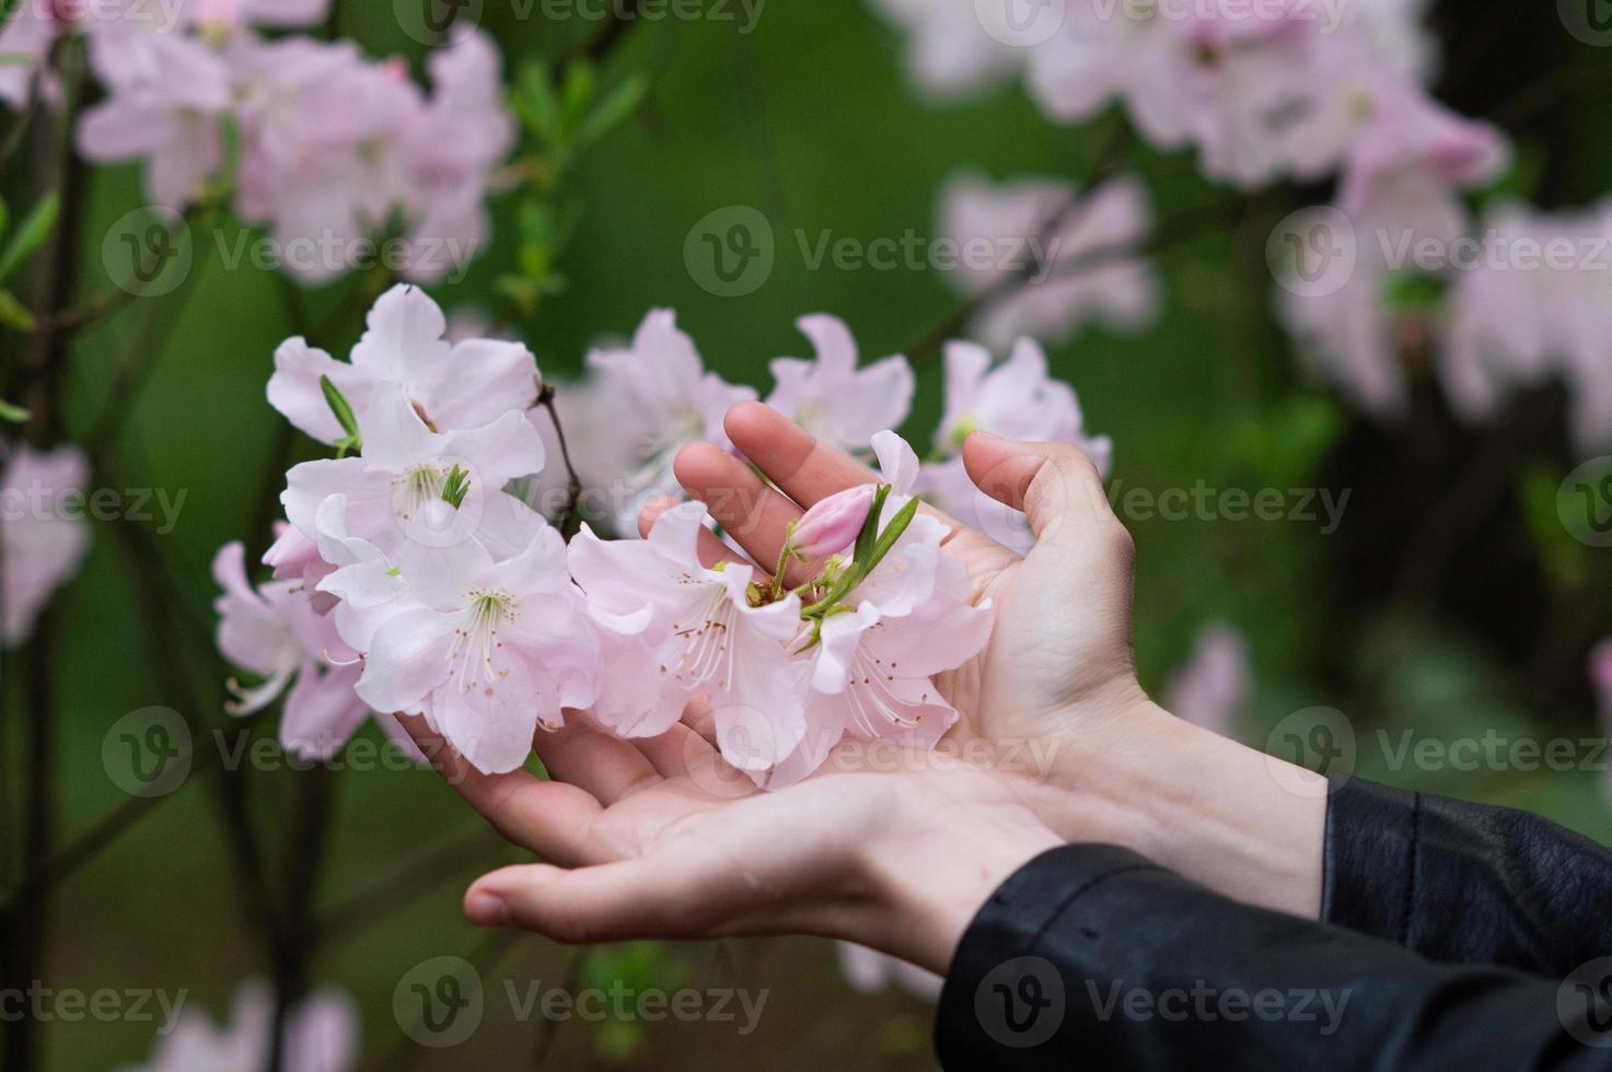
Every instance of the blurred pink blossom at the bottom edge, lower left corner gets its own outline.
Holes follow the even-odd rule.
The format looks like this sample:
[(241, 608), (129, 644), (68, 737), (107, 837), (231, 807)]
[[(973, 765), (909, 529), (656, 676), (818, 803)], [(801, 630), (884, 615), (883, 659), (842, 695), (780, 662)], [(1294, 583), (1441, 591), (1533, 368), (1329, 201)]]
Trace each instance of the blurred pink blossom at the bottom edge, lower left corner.
[[(187, 1008), (160, 1037), (143, 1064), (121, 1072), (256, 1072), (269, 1053), (274, 995), (263, 982), (235, 991), (229, 1024), (216, 1027)], [(348, 1072), (358, 1067), (358, 1008), (340, 990), (324, 988), (289, 1011), (284, 1035), (285, 1072)]]

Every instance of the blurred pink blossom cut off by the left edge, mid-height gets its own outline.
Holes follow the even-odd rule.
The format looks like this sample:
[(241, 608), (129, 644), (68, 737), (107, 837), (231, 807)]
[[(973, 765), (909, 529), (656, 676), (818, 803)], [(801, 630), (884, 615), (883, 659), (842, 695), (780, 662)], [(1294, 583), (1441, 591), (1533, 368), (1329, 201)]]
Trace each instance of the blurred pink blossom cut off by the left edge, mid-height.
[(0, 640), (15, 648), (34, 632), (52, 593), (84, 563), (90, 532), (68, 497), (89, 484), (89, 459), (76, 447), (0, 456)]

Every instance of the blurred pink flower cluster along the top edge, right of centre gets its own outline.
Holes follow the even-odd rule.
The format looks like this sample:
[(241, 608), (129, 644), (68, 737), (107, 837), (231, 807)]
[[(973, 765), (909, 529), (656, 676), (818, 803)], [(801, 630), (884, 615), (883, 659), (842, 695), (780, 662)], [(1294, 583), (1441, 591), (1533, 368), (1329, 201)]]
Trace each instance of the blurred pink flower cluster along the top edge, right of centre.
[(1340, 168), (1362, 132), (1390, 118), (1390, 97), (1433, 66), (1425, 0), (1020, 3), (1022, 40), (1003, 32), (1012, 19), (985, 18), (1003, 3), (877, 6), (912, 34), (909, 66), (938, 97), (1022, 74), (1056, 123), (1119, 102), (1149, 143), (1194, 147), (1206, 174), (1244, 189)]

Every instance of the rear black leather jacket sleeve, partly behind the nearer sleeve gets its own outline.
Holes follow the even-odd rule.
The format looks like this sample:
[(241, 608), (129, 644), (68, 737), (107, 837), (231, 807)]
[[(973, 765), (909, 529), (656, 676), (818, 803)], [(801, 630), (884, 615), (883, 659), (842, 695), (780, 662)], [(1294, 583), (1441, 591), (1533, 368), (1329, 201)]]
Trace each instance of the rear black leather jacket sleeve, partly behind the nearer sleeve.
[(1325, 851), (1322, 919), (1428, 959), (1562, 979), (1612, 953), (1612, 853), (1539, 816), (1354, 779)]

